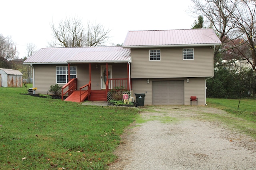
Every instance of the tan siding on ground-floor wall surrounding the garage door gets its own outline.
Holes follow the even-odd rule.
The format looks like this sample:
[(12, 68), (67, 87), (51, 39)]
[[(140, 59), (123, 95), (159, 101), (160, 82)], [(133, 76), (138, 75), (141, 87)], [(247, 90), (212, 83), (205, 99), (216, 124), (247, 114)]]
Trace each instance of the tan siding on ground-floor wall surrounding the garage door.
[(132, 79), (132, 95), (136, 99), (135, 93), (144, 93), (144, 105), (152, 105), (152, 82), (153, 81), (184, 81), (184, 105), (190, 105), (190, 96), (197, 96), (198, 105), (205, 105), (205, 78), (153, 78), (147, 83), (145, 79)]

